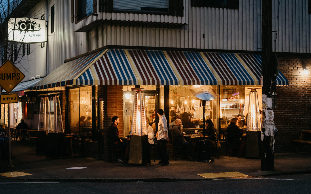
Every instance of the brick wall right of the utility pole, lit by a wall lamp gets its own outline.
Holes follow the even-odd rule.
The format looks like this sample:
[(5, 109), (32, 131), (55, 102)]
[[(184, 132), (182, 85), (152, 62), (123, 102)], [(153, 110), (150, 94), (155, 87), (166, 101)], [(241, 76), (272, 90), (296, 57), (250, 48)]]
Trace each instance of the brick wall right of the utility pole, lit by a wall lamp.
[[(277, 109), (274, 121), (279, 132), (275, 137), (275, 152), (294, 151), (292, 139), (299, 139), (299, 130), (310, 129), (311, 118), (311, 57), (278, 56), (279, 70), (289, 86), (277, 87)], [(309, 69), (304, 74), (303, 67)]]

